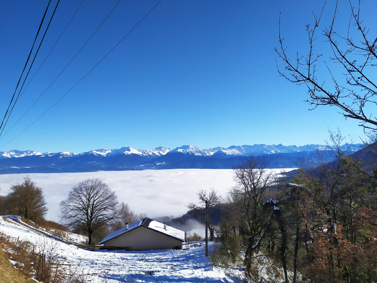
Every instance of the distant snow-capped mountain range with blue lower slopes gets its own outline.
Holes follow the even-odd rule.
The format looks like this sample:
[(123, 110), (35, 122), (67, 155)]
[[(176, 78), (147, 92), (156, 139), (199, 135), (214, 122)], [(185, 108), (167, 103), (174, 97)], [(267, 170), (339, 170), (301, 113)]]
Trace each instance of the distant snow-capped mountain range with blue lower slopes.
[[(352, 150), (358, 149), (354, 145)], [(250, 154), (263, 156), (269, 168), (297, 168), (298, 161), (316, 150), (320, 144), (284, 146), (254, 144), (201, 149), (192, 145), (177, 148), (97, 149), (83, 153), (40, 153), (31, 150), (0, 152), (0, 174), (89, 172), (99, 170), (146, 169), (232, 169)]]

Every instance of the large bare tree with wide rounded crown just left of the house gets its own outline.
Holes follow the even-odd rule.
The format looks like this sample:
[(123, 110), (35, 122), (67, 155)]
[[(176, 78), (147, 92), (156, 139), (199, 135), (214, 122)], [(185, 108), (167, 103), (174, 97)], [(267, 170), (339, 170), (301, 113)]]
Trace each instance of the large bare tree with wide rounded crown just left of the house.
[(74, 229), (83, 229), (92, 244), (92, 234), (101, 226), (111, 226), (119, 218), (117, 197), (100, 179), (86, 179), (75, 185), (60, 202), (61, 221)]

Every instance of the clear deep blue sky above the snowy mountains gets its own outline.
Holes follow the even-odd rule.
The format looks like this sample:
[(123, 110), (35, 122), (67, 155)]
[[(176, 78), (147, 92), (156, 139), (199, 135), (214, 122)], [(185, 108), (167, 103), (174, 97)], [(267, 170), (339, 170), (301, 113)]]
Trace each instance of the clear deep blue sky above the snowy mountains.
[[(59, 3), (27, 83), (80, 2)], [(312, 12), (320, 13), (320, 0), (162, 0), (108, 57), (37, 120), (158, 2), (122, 0), (81, 53), (14, 125), (117, 2), (82, 3), (16, 103), (0, 137), (0, 151), (84, 152), (183, 144), (201, 148), (254, 143), (304, 145), (323, 143), (328, 139), (328, 129), (338, 127), (344, 135), (362, 136), (357, 123), (346, 121), (335, 108), (308, 111), (310, 106), (303, 101), (306, 88), (287, 82), (277, 73), (274, 48), (279, 44), (279, 12), (289, 52), (292, 56), (296, 51), (304, 55), (305, 24), (313, 23)], [(346, 31), (349, 4), (340, 2), (337, 28)], [(1, 119), (47, 3), (1, 1)], [(327, 1), (321, 30), (330, 24), (334, 6), (334, 0)], [(377, 1), (361, 1), (361, 16), (371, 28), (376, 27), (376, 14)], [(318, 33), (319, 53), (327, 52), (323, 40)]]

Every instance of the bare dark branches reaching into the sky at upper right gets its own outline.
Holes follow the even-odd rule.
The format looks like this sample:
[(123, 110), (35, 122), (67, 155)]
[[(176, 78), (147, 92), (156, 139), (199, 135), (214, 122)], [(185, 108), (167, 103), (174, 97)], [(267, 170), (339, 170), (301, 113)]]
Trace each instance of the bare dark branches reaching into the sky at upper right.
[[(377, 105), (377, 83), (376, 69), (373, 68), (377, 59), (376, 31), (371, 32), (369, 28), (362, 26), (360, 2), (357, 8), (349, 2), (351, 19), (347, 34), (342, 35), (335, 30), (338, 2), (331, 24), (323, 30), (324, 39), (331, 49), (327, 62), (324, 61), (332, 80), (331, 86), (317, 77), (317, 67), (322, 54), (316, 53), (314, 49), (323, 9), (319, 17), (314, 17), (314, 25), (306, 25), (309, 40), (306, 56), (300, 56), (297, 52), (296, 57), (291, 60), (279, 27), (280, 46), (275, 48), (275, 51), (284, 68), (278, 67), (278, 72), (292, 83), (307, 86), (309, 98), (305, 101), (311, 104), (312, 109), (320, 105), (335, 106), (345, 118), (358, 120), (364, 130), (377, 130), (374, 110)], [(338, 74), (334, 73), (334, 68), (330, 68), (329, 62), (342, 66), (343, 82), (339, 80)]]

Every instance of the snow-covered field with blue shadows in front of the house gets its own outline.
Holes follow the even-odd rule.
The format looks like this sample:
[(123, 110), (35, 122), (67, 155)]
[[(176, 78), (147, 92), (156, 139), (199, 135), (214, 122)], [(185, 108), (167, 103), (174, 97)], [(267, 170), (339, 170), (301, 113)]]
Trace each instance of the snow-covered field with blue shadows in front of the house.
[[(59, 268), (69, 268), (82, 275), (85, 282), (155, 282), (155, 283), (215, 283), (242, 282), (243, 272), (237, 269), (212, 267), (204, 256), (203, 242), (184, 243), (183, 250), (145, 252), (87, 251), (74, 245), (38, 234), (21, 226), (12, 218), (0, 217), (0, 233), (34, 245), (53, 247)], [(77, 238), (77, 240), (82, 240)], [(214, 243), (210, 243), (210, 250)]]

